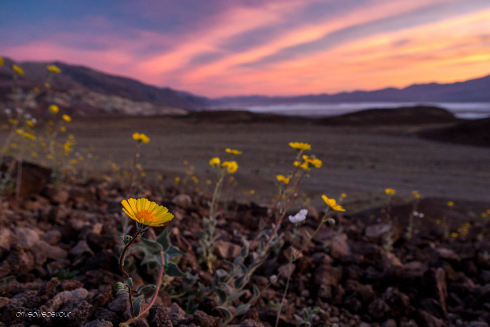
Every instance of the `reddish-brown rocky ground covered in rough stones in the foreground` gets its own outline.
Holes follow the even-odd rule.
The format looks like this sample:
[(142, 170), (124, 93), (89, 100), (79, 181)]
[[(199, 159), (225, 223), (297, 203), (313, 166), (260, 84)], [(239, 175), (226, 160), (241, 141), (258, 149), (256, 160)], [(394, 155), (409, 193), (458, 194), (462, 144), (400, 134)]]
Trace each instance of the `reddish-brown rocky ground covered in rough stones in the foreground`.
[[(46, 184), (40, 189), (23, 200), (1, 201), (0, 326), (118, 326), (129, 314), (127, 296), (114, 295), (115, 283), (123, 281), (116, 232), (125, 190), (107, 180), (73, 181), (58, 188)], [(212, 277), (196, 257), (209, 198), (179, 194), (175, 188), (165, 194), (139, 188), (137, 193), (169, 207), (175, 218), (167, 228), (172, 230), (172, 243), (184, 252), (179, 267), (209, 284)], [(404, 237), (403, 228), (412, 203), (393, 206), (389, 223), (382, 219), (382, 208), (335, 216), (338, 224), (323, 227), (294, 261), (279, 326), (297, 326), (294, 314), (301, 315), (308, 307), (321, 308), (312, 326), (489, 326), (490, 224), (479, 213), (490, 204), (461, 202), (452, 209), (445, 203), (444, 199), (421, 200), (418, 211), (425, 217), (415, 221), (411, 239)], [(251, 239), (259, 218), (266, 214), (265, 204), (222, 203), (215, 268), (239, 251), (234, 231)], [(320, 214), (321, 208), (310, 208), (299, 244), (305, 242), (306, 231), (316, 228)], [(459, 226), (464, 230), (444, 240), (440, 220), (447, 220), (451, 230)], [(286, 228), (292, 228), (289, 222)], [(144, 237), (152, 239), (161, 230), (150, 228)], [(261, 290), (260, 297), (230, 326), (274, 326), (291, 244), (286, 235), (278, 255), (270, 255), (256, 271), (252, 283)], [(392, 244), (391, 251), (387, 244)], [(140, 260), (134, 254), (131, 276), (137, 285), (152, 282), (146, 267), (137, 264)], [(270, 285), (269, 277), (278, 272), (282, 276)], [(178, 284), (179, 278), (172, 283)], [(131, 326), (220, 326), (212, 296), (193, 313), (184, 311), (186, 300), (161, 290), (147, 317)], [(71, 314), (18, 314), (38, 310)]]

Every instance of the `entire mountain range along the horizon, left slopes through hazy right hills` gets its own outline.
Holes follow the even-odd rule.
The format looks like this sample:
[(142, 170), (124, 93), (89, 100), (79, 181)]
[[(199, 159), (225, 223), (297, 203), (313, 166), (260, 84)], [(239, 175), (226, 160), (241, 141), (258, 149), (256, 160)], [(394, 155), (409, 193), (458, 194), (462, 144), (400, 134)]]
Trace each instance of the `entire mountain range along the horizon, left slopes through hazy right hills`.
[[(7, 94), (12, 78), (12, 64), (5, 59), (0, 67), (0, 91)], [(81, 105), (94, 111), (126, 114), (164, 114), (175, 110), (195, 111), (213, 108), (239, 108), (249, 105), (332, 103), (332, 102), (490, 102), (490, 75), (463, 82), (414, 84), (406, 88), (385, 88), (376, 91), (354, 91), (338, 94), (302, 95), (293, 97), (237, 96), (210, 99), (171, 88), (147, 85), (135, 79), (105, 74), (87, 67), (62, 62), (20, 62), (25, 71), (17, 82), (28, 89), (42, 83), (54, 64), (61, 73), (51, 85), (61, 105)], [(1, 99), (0, 100), (6, 100)], [(91, 99), (83, 100), (83, 99)], [(112, 102), (111, 102), (112, 101)], [(117, 105), (114, 105), (116, 103)], [(100, 109), (102, 108), (102, 109)], [(170, 110), (170, 111), (169, 111)], [(174, 110), (174, 111), (172, 111)]]

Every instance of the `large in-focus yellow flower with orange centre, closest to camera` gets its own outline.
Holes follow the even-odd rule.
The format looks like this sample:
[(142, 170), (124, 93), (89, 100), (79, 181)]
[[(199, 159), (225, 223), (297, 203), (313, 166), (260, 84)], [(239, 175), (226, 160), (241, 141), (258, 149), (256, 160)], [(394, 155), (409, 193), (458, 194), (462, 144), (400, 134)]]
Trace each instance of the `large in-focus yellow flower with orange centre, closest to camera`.
[(132, 220), (146, 226), (164, 226), (173, 219), (169, 209), (148, 199), (128, 199), (121, 202), (123, 211)]

